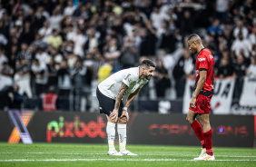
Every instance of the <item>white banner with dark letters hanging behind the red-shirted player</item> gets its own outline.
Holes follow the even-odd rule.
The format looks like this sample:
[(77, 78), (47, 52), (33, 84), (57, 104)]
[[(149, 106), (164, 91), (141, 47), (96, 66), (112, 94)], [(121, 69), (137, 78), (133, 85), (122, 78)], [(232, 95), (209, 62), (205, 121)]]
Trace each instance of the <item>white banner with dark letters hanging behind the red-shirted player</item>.
[[(214, 94), (211, 100), (211, 112), (214, 114), (229, 114), (234, 90), (234, 79), (216, 79), (214, 83)], [(194, 81), (187, 80), (183, 96), (183, 113), (189, 112), (189, 106), (194, 92)]]

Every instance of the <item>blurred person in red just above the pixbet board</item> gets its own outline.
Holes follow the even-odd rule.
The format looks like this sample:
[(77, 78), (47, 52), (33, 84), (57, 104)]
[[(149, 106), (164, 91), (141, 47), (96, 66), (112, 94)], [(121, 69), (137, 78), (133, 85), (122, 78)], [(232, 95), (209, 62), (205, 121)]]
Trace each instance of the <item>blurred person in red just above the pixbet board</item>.
[(58, 95), (54, 86), (49, 87), (49, 91), (43, 94), (43, 110), (44, 112), (56, 111)]

